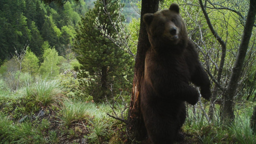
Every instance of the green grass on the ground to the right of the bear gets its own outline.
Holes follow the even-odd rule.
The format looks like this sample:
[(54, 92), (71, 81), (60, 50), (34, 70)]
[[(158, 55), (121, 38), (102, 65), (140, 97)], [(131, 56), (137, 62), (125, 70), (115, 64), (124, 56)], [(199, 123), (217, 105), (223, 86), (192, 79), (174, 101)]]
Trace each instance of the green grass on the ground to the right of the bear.
[(234, 122), (230, 125), (224, 125), (221, 121), (213, 121), (210, 124), (202, 113), (196, 111), (193, 114), (190, 110), (189, 112), (184, 130), (194, 135), (201, 143), (256, 143), (256, 137), (250, 127), (252, 107), (237, 108)]

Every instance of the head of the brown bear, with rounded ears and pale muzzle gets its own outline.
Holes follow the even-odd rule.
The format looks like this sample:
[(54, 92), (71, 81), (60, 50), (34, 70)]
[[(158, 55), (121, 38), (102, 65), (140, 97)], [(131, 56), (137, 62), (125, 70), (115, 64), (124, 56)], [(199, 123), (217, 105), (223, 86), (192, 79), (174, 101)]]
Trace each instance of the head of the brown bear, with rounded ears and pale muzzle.
[(158, 49), (170, 47), (183, 51), (188, 42), (185, 23), (178, 4), (171, 4), (168, 10), (143, 15), (151, 46)]

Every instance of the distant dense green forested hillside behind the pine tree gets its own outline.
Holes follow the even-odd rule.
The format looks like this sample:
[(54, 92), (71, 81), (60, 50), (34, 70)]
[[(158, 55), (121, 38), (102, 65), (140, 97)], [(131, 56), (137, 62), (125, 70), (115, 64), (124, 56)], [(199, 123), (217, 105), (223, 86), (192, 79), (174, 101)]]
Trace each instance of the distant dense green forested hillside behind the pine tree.
[[(40, 63), (47, 46), (54, 47), (59, 55), (65, 56), (66, 50), (73, 46), (78, 22), (93, 8), (93, 2), (67, 1), (65, 5), (59, 5), (39, 0), (1, 1), (0, 66), (5, 60), (12, 59), (15, 51), (21, 53), (27, 46)], [(122, 3), (126, 23), (139, 17), (130, 1)]]

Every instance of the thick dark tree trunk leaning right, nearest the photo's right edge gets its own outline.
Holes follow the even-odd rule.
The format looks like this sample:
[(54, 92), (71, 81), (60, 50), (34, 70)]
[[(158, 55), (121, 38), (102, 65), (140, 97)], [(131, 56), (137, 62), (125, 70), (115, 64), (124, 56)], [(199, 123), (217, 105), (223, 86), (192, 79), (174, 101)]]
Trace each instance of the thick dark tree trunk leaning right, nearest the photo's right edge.
[[(237, 83), (243, 68), (243, 62), (246, 56), (246, 52), (249, 46), (250, 38), (252, 35), (252, 28), (255, 22), (255, 14), (256, 14), (256, 1), (250, 0), (249, 11), (247, 13), (247, 19), (244, 26), (244, 33), (242, 36), (242, 41), (239, 45), (237, 57), (235, 64), (232, 68), (232, 73), (230, 77), (230, 81), (228, 83), (227, 90), (225, 92), (224, 101), (223, 101), (223, 109), (222, 109), (222, 121), (229, 122), (234, 119), (234, 111), (233, 111), (233, 98), (236, 94)], [(230, 121), (230, 122), (231, 122)]]

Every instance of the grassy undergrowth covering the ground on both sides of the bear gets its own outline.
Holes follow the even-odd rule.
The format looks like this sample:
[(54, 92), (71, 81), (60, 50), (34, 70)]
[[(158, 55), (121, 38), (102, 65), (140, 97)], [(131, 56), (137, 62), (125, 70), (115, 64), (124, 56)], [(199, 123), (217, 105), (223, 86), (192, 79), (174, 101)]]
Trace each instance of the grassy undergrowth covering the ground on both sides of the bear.
[[(0, 86), (5, 86), (3, 81)], [(55, 80), (27, 81), (16, 92), (1, 89), (0, 143), (132, 143), (125, 124), (107, 116), (124, 103), (110, 107), (109, 103), (66, 96), (67, 91)], [(187, 105), (183, 143), (256, 143), (249, 125), (253, 104), (236, 105), (236, 118), (229, 126), (218, 116), (209, 123), (198, 104)], [(206, 102), (206, 113), (208, 107)]]

